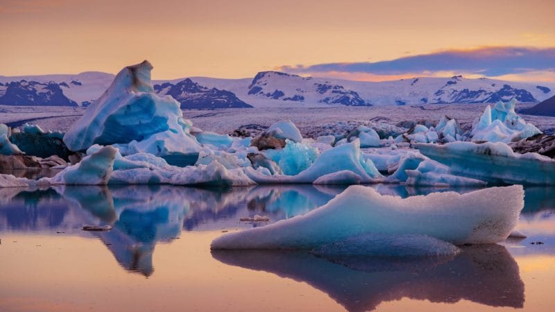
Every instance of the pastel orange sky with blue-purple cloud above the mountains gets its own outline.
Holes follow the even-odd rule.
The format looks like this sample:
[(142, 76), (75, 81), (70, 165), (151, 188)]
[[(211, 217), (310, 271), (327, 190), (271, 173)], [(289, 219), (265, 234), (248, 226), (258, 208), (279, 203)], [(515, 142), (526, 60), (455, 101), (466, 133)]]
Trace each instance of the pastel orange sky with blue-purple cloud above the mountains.
[(0, 75), (555, 82), (555, 1), (0, 0)]

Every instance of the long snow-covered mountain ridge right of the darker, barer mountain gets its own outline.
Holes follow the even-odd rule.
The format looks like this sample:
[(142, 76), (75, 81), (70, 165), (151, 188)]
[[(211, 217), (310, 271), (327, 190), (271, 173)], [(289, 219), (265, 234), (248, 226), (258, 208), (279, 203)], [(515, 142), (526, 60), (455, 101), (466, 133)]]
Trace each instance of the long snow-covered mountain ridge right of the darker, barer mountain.
[(555, 95), (552, 87), (543, 85), (462, 76), (364, 82), (262, 71), (253, 80), (191, 79), (210, 87), (229, 89), (255, 107), (495, 103), (512, 98), (534, 103)]

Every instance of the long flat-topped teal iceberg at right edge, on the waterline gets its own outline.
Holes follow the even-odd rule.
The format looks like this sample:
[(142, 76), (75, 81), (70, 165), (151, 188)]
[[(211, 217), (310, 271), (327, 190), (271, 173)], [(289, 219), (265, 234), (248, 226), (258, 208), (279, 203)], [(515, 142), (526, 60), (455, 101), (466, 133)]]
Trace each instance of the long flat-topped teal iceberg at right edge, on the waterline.
[(493, 184), (555, 184), (555, 159), (517, 154), (501, 142), (418, 144), (420, 153), (449, 167), (450, 173)]

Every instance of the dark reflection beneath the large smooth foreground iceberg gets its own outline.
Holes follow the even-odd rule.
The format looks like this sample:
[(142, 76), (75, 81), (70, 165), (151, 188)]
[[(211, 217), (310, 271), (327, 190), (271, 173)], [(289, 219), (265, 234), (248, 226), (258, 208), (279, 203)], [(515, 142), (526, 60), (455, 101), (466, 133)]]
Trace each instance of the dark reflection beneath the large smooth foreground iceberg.
[(376, 309), (382, 302), (413, 300), (454, 303), (470, 300), (488, 306), (522, 308), (524, 284), (518, 265), (500, 245), (464, 247), (451, 261), (391, 263), (369, 259), (362, 265), (333, 263), (304, 252), (219, 250), (212, 257), (232, 265), (304, 281), (330, 295), (348, 311)]

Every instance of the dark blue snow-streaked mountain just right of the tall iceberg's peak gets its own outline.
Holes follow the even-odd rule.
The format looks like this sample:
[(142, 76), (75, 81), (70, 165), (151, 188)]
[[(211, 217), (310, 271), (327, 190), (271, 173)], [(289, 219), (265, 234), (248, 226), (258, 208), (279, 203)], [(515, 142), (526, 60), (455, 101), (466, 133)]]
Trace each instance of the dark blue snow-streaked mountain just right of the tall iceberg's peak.
[(207, 88), (187, 78), (178, 83), (154, 85), (160, 95), (169, 95), (181, 103), (181, 108), (214, 109), (253, 107), (239, 100), (233, 92), (216, 88)]

